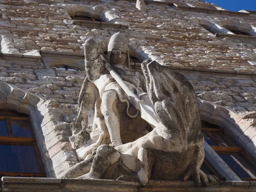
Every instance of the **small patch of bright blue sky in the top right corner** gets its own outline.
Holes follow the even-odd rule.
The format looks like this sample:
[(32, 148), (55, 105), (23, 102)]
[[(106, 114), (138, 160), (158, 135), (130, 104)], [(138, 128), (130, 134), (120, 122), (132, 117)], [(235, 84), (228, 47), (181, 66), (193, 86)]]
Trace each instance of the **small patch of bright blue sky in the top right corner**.
[(228, 11), (251, 10), (256, 11), (256, 0), (204, 0), (227, 9)]

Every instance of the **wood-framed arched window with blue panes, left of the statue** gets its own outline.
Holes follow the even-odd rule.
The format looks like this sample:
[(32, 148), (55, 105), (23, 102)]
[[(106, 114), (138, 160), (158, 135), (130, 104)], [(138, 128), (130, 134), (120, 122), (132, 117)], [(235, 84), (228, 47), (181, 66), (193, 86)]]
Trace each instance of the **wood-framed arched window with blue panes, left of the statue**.
[(46, 177), (26, 114), (0, 110), (0, 177)]

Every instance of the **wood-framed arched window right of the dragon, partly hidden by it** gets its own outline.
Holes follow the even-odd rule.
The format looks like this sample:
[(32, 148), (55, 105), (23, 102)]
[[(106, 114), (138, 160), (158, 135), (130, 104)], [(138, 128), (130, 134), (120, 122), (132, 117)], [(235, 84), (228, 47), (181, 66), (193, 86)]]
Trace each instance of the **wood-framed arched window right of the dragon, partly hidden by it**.
[(227, 131), (217, 125), (202, 122), (202, 134), (204, 140), (241, 180), (256, 180), (256, 160)]

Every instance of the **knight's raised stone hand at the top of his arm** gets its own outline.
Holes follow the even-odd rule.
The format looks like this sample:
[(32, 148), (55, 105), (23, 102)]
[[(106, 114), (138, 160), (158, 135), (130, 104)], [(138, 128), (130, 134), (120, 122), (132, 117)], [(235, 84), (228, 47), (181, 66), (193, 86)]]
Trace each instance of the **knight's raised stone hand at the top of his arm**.
[(84, 59), (85, 61), (94, 61), (99, 56), (99, 45), (92, 38), (84, 42)]

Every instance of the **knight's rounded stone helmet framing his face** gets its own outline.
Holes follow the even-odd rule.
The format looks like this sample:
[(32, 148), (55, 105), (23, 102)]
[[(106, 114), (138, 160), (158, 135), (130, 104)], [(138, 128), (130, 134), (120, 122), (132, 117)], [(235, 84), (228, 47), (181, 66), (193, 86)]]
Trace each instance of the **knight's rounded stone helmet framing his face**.
[(130, 57), (129, 57), (129, 41), (122, 33), (118, 32), (112, 35), (108, 44), (108, 62), (110, 62), (110, 56), (113, 49), (120, 51), (126, 51), (125, 66), (130, 68)]

